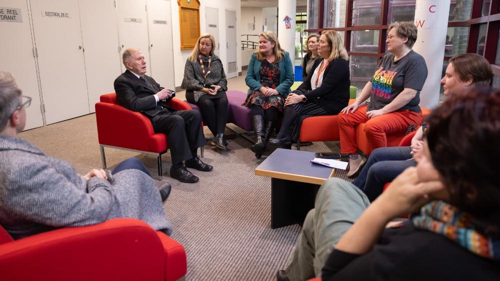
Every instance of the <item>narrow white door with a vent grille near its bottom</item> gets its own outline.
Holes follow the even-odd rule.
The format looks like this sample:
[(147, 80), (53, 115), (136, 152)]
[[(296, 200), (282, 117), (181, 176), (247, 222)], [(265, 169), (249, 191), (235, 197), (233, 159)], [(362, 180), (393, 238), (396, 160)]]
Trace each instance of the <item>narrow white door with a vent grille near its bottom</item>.
[(226, 75), (228, 78), (238, 76), (238, 65), (236, 65), (236, 48), (239, 43), (236, 39), (236, 12), (226, 10)]

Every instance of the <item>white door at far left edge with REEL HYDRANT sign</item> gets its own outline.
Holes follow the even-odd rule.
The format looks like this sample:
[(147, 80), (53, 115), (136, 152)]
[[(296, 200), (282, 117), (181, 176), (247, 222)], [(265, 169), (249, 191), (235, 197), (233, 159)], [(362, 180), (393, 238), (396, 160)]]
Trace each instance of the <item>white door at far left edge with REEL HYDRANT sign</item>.
[(0, 61), (2, 61), (0, 70), (11, 72), (18, 86), (23, 90), (23, 95), (32, 98), (31, 106), (26, 108), (25, 129), (43, 126), (44, 119), (40, 107), (40, 89), (27, 2), (2, 0), (0, 6), (2, 6), (0, 9), (3, 9), (0, 10), (0, 14), (16, 14), (14, 18), (9, 19), (16, 21), (0, 21), (3, 38), (0, 43)]

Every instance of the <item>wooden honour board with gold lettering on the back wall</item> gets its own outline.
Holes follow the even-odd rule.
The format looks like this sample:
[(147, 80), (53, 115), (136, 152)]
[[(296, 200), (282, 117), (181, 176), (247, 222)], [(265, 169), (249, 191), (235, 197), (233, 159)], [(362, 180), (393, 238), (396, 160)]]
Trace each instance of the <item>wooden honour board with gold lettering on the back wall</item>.
[(179, 4), (179, 26), (181, 49), (192, 49), (200, 37), (200, 1), (177, 0)]

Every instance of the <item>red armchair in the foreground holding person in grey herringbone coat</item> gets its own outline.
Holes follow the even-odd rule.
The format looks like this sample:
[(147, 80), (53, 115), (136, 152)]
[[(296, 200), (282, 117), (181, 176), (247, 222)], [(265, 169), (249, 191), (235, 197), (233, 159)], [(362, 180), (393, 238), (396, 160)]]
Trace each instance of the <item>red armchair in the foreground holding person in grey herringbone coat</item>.
[(0, 226), (3, 280), (162, 280), (187, 271), (184, 247), (147, 223), (117, 218), (13, 240)]

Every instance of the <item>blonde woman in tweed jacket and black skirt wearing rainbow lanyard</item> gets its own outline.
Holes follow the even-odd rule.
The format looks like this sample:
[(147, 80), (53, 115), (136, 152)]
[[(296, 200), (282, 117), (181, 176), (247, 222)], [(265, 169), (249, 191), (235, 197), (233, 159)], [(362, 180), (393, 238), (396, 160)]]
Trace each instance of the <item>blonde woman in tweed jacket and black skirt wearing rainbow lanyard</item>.
[(186, 89), (186, 99), (200, 107), (203, 122), (214, 134), (212, 143), (227, 149), (224, 139), (227, 122), (227, 80), (221, 59), (214, 54), (215, 39), (210, 33), (198, 38), (184, 67), (181, 87)]

